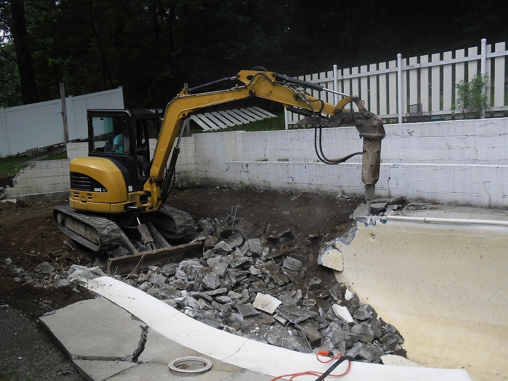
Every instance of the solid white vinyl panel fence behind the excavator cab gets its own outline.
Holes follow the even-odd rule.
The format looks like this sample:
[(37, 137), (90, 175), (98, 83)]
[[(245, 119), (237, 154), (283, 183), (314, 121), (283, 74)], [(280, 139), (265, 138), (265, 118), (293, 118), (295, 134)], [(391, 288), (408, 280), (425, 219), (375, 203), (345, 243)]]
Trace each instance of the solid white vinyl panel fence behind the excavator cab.
[[(88, 136), (86, 109), (123, 108), (121, 87), (66, 98), (69, 140)], [(61, 100), (0, 107), (0, 157), (63, 142)]]

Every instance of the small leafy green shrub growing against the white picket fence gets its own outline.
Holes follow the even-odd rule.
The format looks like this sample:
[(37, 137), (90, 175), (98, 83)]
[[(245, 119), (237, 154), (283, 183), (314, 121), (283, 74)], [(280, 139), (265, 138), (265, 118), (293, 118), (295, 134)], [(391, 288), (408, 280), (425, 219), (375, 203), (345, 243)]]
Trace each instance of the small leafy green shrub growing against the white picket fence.
[(487, 93), (483, 88), (487, 84), (488, 75), (477, 73), (470, 82), (461, 80), (455, 85), (457, 100), (452, 106), (452, 114), (460, 113), (463, 118), (474, 113), (477, 117), (486, 110), (488, 105)]

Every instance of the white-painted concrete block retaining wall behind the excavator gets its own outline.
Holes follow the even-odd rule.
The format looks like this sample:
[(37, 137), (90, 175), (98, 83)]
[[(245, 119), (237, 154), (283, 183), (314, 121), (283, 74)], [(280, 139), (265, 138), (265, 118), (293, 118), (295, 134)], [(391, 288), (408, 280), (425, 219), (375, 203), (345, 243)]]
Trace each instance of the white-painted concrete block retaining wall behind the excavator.
[[(385, 129), (376, 185), (379, 197), (508, 206), (508, 118), (391, 124)], [(323, 135), (329, 157), (362, 150), (355, 128), (326, 129)], [(180, 148), (176, 168), (180, 184), (240, 186), (242, 181), (261, 189), (347, 196), (364, 192), (361, 156), (334, 166), (319, 162), (314, 130), (195, 134), (183, 138)], [(68, 155), (86, 156), (87, 143), (70, 143)], [(67, 178), (55, 172), (55, 179), (47, 175), (47, 184), (63, 187), (66, 181), (67, 189), (68, 164), (65, 167)], [(29, 177), (29, 171), (35, 171), (31, 186), (44, 186), (38, 179), (44, 172), (37, 173), (35, 167), (17, 179), (19, 186), (27, 186), (21, 180)]]

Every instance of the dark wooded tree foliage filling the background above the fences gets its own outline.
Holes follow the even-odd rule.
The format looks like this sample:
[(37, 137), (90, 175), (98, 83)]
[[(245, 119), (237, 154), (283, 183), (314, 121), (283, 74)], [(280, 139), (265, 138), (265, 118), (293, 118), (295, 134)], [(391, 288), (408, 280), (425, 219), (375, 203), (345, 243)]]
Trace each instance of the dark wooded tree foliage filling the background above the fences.
[[(12, 1), (0, 0), (0, 106), (23, 99)], [(499, 0), (463, 0), (459, 8), (453, 2), (429, 7), (425, 0), (344, 7), (334, 0), (311, 6), (304, 0), (21, 3), (40, 101), (58, 99), (64, 82), (75, 96), (123, 86), (125, 107), (164, 108), (185, 82), (195, 86), (259, 65), (298, 76), (333, 64), (345, 68), (397, 53), (478, 45), (481, 38), (508, 40), (501, 17), (508, 2)]]

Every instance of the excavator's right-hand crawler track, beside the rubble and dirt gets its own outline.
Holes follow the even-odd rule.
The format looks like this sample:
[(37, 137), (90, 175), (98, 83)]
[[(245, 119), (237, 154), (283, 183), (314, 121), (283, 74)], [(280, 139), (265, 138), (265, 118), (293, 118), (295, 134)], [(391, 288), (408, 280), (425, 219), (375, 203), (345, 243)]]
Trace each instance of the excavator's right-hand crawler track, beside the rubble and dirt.
[(171, 241), (187, 239), (194, 233), (194, 220), (183, 210), (163, 206), (149, 213), (149, 218), (163, 237)]

